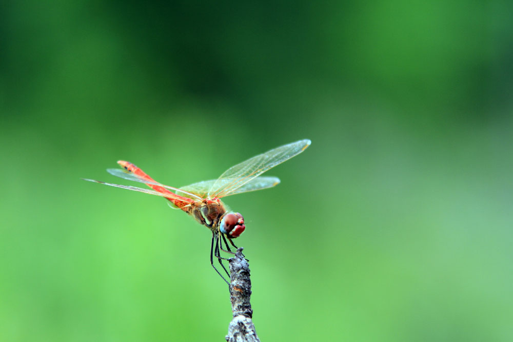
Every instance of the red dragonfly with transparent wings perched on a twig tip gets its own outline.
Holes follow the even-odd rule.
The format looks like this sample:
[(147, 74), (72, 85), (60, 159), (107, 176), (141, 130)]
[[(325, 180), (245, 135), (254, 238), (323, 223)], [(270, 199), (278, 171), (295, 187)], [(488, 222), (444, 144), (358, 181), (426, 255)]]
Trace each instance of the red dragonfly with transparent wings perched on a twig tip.
[(232, 166), (217, 179), (204, 180), (180, 188), (156, 182), (142, 169), (125, 160), (118, 160), (117, 162), (121, 169), (107, 169), (107, 172), (116, 177), (143, 183), (150, 189), (106, 183), (94, 179), (82, 179), (111, 187), (164, 197), (169, 201), (168, 204), (171, 208), (180, 209), (192, 216), (201, 225), (211, 230), (210, 265), (229, 284), (215, 267), (213, 260), (214, 258), (218, 259), (226, 274), (230, 275), (222, 263), (222, 260), (226, 260), (226, 258), (221, 256), (221, 251), (235, 254), (231, 251), (230, 246), (228, 246), (228, 242), (237, 249), (233, 239), (239, 237), (244, 232), (246, 225), (244, 217), (238, 212), (231, 211), (222, 202), (221, 198), (272, 188), (280, 184), (278, 177), (261, 176), (262, 173), (300, 154), (310, 144), (311, 141), (309, 139), (303, 139), (274, 148)]

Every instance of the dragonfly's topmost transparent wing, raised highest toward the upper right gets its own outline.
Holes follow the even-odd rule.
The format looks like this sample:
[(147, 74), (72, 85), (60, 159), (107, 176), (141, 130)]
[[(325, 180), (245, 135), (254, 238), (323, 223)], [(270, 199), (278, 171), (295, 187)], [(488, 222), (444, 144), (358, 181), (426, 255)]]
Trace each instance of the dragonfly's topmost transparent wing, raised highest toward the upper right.
[(303, 152), (311, 142), (309, 139), (283, 145), (254, 156), (232, 166), (217, 179), (208, 191), (209, 197), (224, 197), (232, 194), (252, 179)]

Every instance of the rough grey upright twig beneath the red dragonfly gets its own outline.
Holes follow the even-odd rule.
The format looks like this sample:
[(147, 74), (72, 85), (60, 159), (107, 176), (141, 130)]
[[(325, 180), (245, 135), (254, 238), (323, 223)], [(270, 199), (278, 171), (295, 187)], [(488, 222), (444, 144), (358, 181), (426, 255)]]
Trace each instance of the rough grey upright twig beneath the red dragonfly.
[(249, 264), (239, 248), (230, 263), (230, 300), (233, 319), (228, 326), (228, 342), (260, 342), (251, 318)]

